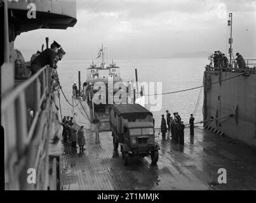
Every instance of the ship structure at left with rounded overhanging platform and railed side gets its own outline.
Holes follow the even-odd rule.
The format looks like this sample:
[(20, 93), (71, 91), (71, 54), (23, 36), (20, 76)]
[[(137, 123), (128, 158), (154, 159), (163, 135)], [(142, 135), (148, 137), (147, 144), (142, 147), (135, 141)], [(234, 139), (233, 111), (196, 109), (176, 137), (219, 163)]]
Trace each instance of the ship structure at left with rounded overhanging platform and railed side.
[[(36, 18), (27, 17), (29, 4), (36, 6)], [(1, 35), (4, 49), (1, 125), (4, 128), (5, 189), (56, 190), (60, 155), (56, 149), (61, 147), (57, 137), (62, 133), (56, 81), (48, 66), (27, 79), (15, 79), (14, 44), (22, 32), (73, 27), (76, 1), (0, 1), (0, 10), (1, 27), (4, 27)]]

